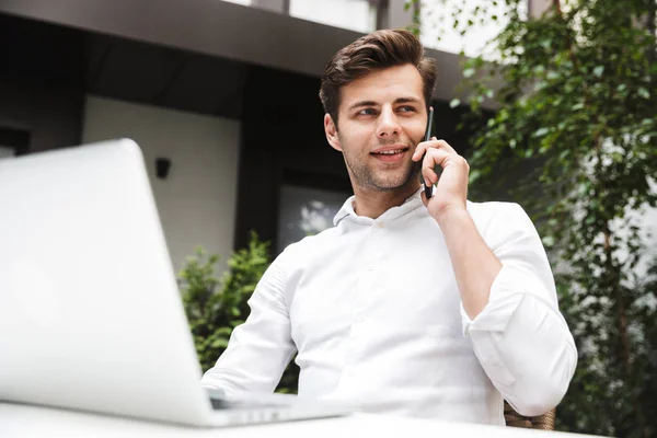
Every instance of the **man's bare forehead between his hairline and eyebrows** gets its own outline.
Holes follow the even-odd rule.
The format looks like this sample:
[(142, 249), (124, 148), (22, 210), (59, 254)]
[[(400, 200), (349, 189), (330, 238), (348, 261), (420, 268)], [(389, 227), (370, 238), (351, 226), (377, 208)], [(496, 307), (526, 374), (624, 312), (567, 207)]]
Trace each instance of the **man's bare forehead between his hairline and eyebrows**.
[(424, 101), (419, 71), (410, 64), (374, 70), (341, 89), (341, 107), (358, 101), (394, 102), (399, 97)]

